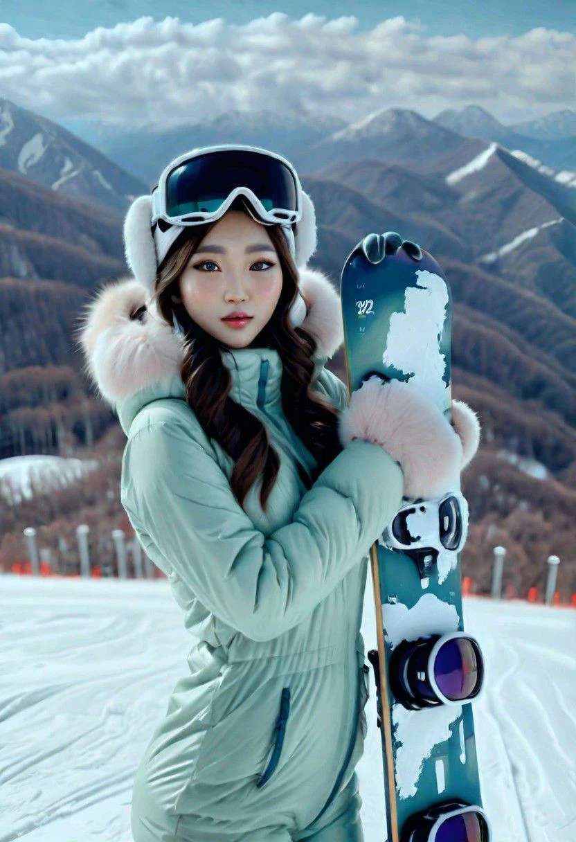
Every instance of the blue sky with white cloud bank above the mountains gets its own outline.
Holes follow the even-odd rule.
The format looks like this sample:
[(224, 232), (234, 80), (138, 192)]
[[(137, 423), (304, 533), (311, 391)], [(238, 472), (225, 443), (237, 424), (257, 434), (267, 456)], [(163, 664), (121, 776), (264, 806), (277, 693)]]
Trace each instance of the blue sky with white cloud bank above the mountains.
[(362, 120), (576, 108), (576, 0), (0, 0), (0, 98), (69, 128), (231, 109)]

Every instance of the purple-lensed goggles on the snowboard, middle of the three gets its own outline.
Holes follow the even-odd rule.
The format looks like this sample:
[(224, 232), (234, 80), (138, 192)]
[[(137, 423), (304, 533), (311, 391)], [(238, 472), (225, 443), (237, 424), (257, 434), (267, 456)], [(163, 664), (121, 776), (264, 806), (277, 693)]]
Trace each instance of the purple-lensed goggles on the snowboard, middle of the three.
[(448, 632), (399, 643), (388, 672), (396, 700), (416, 711), (476, 699), (483, 687), (484, 660), (474, 637)]

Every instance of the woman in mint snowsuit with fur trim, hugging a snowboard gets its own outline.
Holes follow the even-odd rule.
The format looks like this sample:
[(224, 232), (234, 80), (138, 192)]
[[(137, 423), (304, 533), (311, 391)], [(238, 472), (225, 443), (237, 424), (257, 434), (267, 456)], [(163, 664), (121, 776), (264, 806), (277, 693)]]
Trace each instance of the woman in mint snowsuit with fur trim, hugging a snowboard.
[(90, 302), (83, 349), (128, 438), (122, 504), (198, 639), (134, 839), (363, 839), (367, 553), (403, 496), (451, 487), (477, 418), (378, 378), (348, 399), (312, 201), (274, 152), (180, 156), (124, 233), (135, 279)]

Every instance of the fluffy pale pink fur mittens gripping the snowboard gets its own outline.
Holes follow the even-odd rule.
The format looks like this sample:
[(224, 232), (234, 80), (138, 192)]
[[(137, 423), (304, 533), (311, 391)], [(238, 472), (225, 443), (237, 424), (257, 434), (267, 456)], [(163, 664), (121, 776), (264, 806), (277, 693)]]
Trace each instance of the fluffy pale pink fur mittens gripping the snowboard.
[(457, 402), (454, 415), (458, 420), (452, 428), (435, 403), (408, 383), (383, 384), (371, 377), (340, 414), (339, 438), (342, 445), (353, 439), (381, 445), (403, 470), (404, 497), (431, 498), (457, 486), (480, 439), (476, 415), (467, 404)]

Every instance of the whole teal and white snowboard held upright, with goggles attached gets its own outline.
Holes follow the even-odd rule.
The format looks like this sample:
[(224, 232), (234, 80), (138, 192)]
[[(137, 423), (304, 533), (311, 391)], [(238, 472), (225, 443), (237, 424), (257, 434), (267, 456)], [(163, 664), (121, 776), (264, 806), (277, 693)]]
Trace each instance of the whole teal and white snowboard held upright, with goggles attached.
[[(381, 376), (383, 381), (396, 378), (427, 395), (450, 423), (452, 300), (435, 258), (397, 232), (368, 234), (346, 259), (340, 299), (349, 395), (370, 376)], [(419, 650), (428, 653), (424, 660), (414, 661), (412, 656), (409, 669), (402, 657), (410, 642), (427, 642), (430, 647), (447, 636), (455, 648), (457, 642), (464, 645), (463, 637), (470, 637), (463, 630), (459, 556), (467, 516), (459, 481), (457, 488), (447, 488), (432, 502), (403, 498), (401, 512), (369, 554), (377, 650), (371, 649), (368, 659), (376, 680), (389, 842), (491, 838), (482, 809), (472, 717), (479, 690), (467, 702), (458, 702), (457, 694), (456, 701), (445, 695), (445, 703), (435, 696), (433, 704), (425, 696), (418, 699), (413, 688), (419, 682), (420, 689), (424, 686), (422, 669), (429, 666), (429, 648)], [(458, 552), (439, 541), (442, 528), (457, 533), (446, 544), (458, 545)], [(430, 546), (423, 548), (426, 530)], [(400, 548), (394, 546), (398, 539)], [(481, 686), (482, 654), (475, 643), (476, 648), (467, 644), (464, 657), (472, 653), (474, 661), (477, 656), (467, 668), (476, 670)], [(438, 669), (440, 674), (441, 665)], [(429, 695), (429, 688), (426, 692)], [(432, 818), (420, 818), (430, 807), (448, 813), (454, 804), (477, 807), (477, 825), (472, 828), (466, 814), (447, 821), (441, 832), (435, 829), (437, 837), (414, 830), (432, 827), (434, 810)]]

